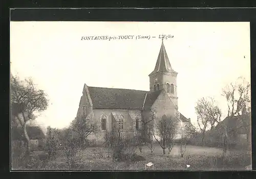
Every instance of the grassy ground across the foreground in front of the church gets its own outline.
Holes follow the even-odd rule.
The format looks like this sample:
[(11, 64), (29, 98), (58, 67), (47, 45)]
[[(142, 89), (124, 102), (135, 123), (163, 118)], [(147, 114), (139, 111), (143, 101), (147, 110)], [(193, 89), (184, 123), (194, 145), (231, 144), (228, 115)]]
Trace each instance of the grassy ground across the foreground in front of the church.
[[(38, 155), (42, 151), (34, 151), (33, 155)], [(131, 162), (126, 166), (124, 162), (113, 162), (111, 152), (103, 147), (89, 147), (80, 151), (82, 162), (79, 170), (144, 170), (145, 164), (154, 163), (154, 170), (244, 170), (245, 166), (251, 164), (251, 153), (248, 151), (229, 150), (227, 161), (223, 163), (220, 156), (220, 148), (200, 147), (187, 145), (184, 157), (181, 158), (179, 145), (175, 145), (172, 152), (163, 155), (162, 149), (156, 145), (153, 155), (147, 146), (143, 146), (142, 153), (139, 149), (136, 153), (144, 156), (146, 161)], [(189, 168), (186, 165), (190, 165)], [(43, 169), (43, 168), (42, 168)], [(51, 161), (51, 165), (44, 169), (66, 169), (65, 156), (63, 151), (59, 151), (56, 159)]]

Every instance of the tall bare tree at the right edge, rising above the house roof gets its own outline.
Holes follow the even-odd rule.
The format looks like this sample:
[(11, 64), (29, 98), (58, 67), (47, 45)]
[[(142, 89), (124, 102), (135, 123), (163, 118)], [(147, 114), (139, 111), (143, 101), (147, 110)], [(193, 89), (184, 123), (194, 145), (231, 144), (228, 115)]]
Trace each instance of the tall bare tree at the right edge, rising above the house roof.
[(235, 83), (228, 84), (223, 89), (223, 94), (227, 100), (229, 116), (240, 116), (250, 110), (250, 84), (242, 77)]

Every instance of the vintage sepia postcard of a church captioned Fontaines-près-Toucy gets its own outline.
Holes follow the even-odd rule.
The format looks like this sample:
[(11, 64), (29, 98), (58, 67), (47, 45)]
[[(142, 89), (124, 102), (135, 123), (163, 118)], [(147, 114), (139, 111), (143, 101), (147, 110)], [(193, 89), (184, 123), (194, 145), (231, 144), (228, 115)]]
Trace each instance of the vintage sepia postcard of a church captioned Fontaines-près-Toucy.
[(250, 170), (247, 22), (11, 21), (12, 170)]

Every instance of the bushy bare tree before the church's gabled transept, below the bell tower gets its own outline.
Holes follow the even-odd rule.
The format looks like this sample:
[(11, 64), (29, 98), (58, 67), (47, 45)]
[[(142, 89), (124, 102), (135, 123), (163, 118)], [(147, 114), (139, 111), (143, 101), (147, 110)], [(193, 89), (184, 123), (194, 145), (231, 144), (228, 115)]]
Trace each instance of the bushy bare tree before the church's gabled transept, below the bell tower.
[[(159, 143), (165, 154), (165, 149), (172, 149), (172, 143), (177, 132), (176, 119), (167, 118), (165, 115), (156, 123), (156, 132), (153, 133), (155, 140)], [(158, 137), (156, 136), (158, 134)], [(170, 151), (169, 151), (170, 152)]]

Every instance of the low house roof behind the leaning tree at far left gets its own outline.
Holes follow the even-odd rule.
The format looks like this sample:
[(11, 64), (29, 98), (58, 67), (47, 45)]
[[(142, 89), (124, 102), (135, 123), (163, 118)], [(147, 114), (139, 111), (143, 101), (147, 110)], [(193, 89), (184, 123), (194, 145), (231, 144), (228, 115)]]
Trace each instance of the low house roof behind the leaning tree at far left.
[[(38, 126), (27, 126), (27, 133), (28, 133), (29, 139), (45, 139), (46, 138), (44, 132), (42, 132), (42, 129)], [(12, 128), (12, 139), (13, 140), (24, 139), (23, 129), (20, 127)]]

